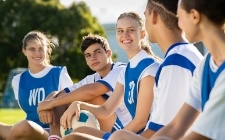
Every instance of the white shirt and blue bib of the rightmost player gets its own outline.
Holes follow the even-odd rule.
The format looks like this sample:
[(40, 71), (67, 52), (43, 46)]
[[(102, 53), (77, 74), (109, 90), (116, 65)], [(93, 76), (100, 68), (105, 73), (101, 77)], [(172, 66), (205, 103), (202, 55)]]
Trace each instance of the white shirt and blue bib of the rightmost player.
[(191, 130), (210, 139), (225, 138), (225, 62), (219, 67), (208, 53), (196, 68), (186, 103), (200, 115)]

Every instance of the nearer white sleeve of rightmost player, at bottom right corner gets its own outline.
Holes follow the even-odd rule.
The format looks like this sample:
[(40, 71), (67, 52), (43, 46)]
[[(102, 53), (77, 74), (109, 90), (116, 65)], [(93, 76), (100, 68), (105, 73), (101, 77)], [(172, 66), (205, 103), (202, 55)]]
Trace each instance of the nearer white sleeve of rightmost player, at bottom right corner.
[(225, 138), (225, 70), (221, 72), (212, 88), (209, 100), (206, 102), (203, 112), (194, 122), (192, 130), (203, 136), (215, 140)]

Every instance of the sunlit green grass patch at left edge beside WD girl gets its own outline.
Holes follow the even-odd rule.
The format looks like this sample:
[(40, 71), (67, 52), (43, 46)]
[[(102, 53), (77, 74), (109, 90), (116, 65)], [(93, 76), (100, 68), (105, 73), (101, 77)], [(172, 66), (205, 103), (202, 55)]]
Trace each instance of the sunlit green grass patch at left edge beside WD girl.
[(0, 109), (0, 122), (6, 124), (15, 124), (26, 117), (25, 113), (21, 109)]

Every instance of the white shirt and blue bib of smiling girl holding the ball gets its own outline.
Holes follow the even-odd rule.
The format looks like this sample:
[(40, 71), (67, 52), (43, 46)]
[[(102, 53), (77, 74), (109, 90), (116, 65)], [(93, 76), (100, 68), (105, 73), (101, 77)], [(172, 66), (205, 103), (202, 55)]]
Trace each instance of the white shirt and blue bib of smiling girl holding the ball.
[(158, 67), (159, 63), (142, 50), (129, 60), (126, 69), (120, 74), (118, 82), (124, 85), (124, 102), (129, 111), (126, 115), (126, 124), (123, 126), (135, 117), (139, 82), (149, 75), (155, 77)]

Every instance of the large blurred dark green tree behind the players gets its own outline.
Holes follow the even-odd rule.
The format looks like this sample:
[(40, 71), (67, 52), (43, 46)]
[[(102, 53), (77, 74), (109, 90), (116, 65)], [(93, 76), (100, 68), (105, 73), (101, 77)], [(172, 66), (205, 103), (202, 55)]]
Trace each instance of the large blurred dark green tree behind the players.
[(10, 69), (27, 67), (21, 52), (22, 39), (31, 30), (40, 30), (59, 39), (53, 65), (65, 65), (73, 79), (91, 73), (79, 49), (88, 33), (106, 36), (84, 2), (64, 7), (59, 0), (0, 0), (0, 91)]

